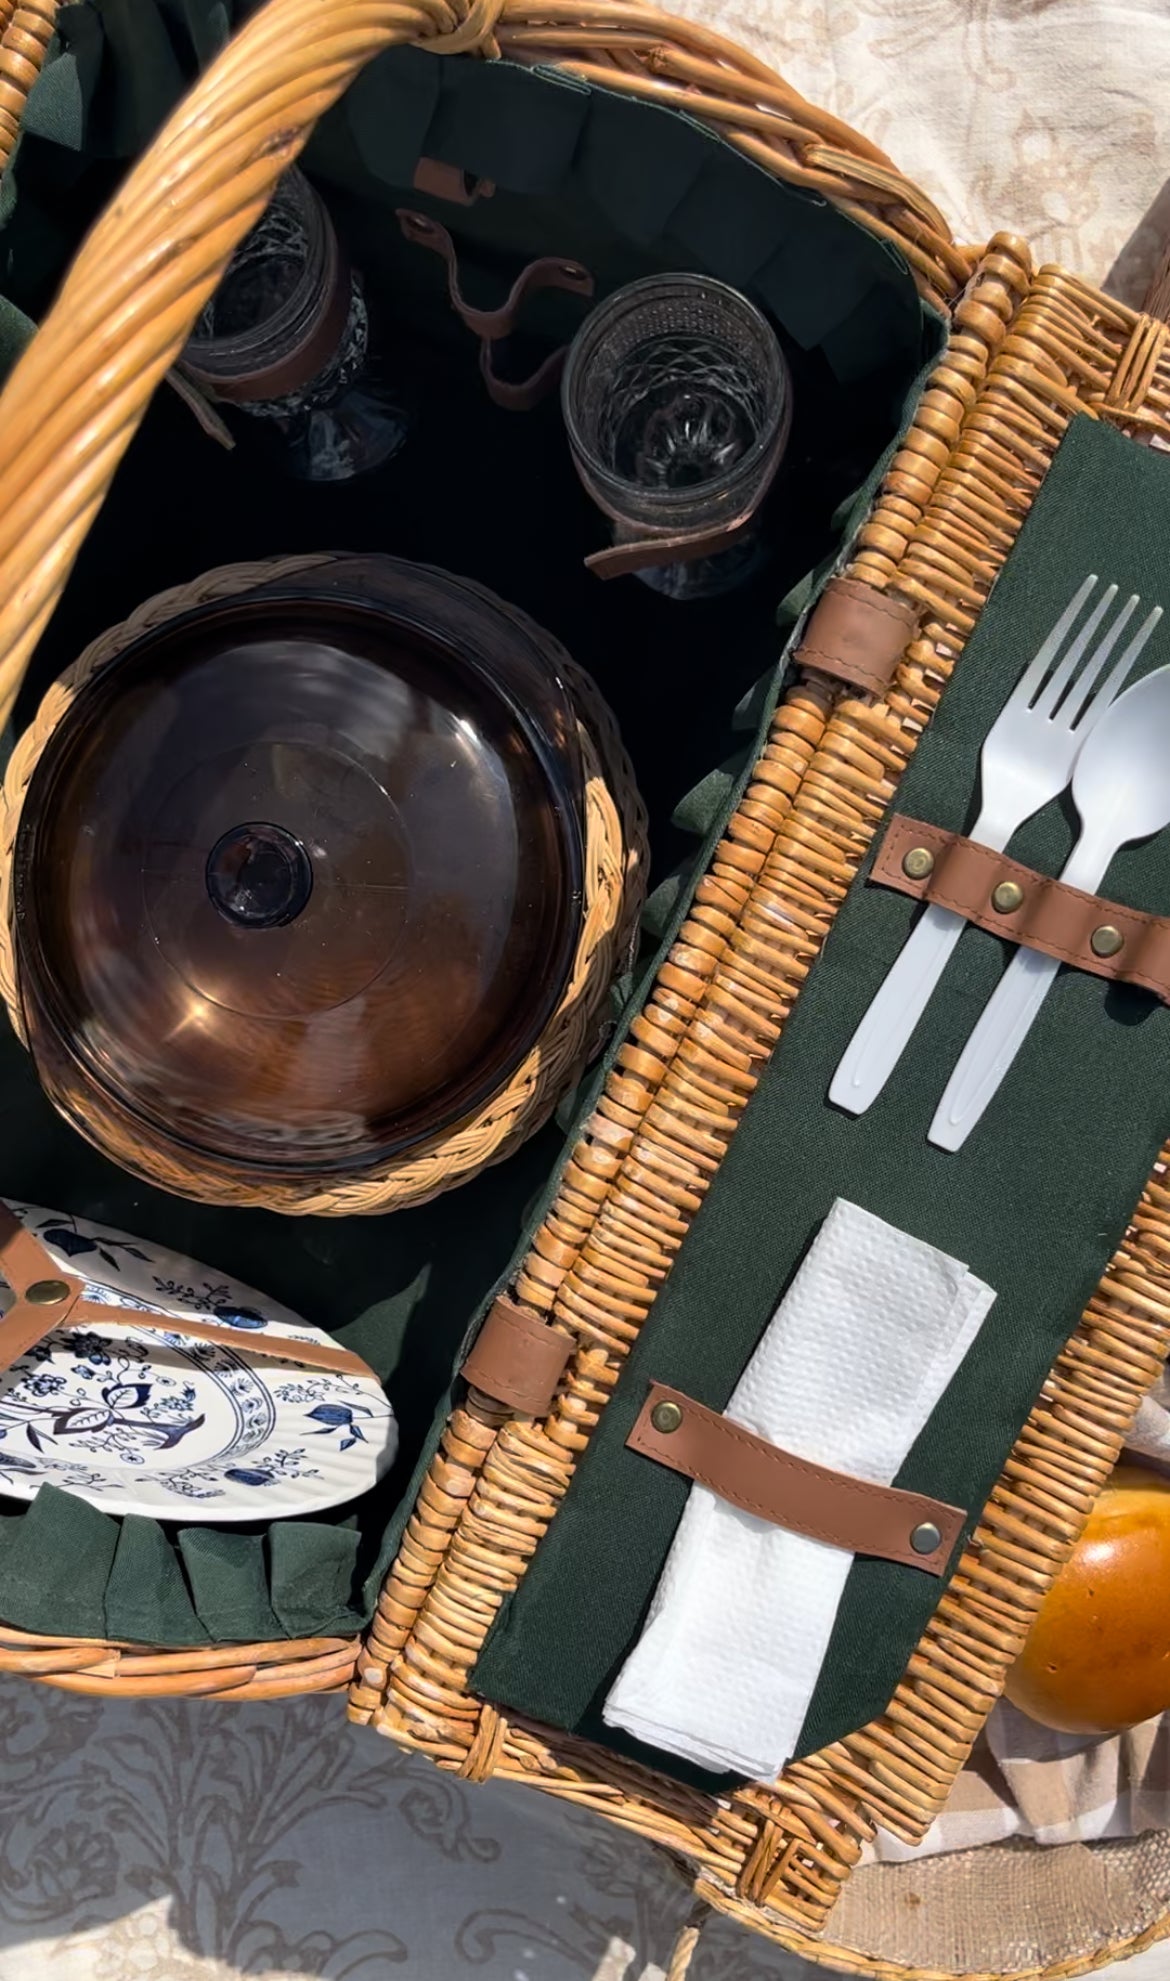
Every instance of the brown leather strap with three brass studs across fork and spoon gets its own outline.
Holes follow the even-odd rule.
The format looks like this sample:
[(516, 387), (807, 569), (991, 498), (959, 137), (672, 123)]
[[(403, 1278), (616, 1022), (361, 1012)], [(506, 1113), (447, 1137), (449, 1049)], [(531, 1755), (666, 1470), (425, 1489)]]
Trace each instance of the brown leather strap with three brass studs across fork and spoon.
[[(1049, 874), (976, 846), (960, 832), (895, 814), (869, 876), (934, 901), (992, 935), (1039, 949), (1077, 971), (1140, 985), (1170, 1004), (1170, 917), (1065, 887)], [(996, 905), (996, 899), (1000, 905)]]

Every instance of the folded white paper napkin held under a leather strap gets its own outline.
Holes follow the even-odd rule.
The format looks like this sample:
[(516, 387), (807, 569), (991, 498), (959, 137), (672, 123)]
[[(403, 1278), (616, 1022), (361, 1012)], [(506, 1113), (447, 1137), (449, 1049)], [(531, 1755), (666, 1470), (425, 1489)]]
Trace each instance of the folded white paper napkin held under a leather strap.
[[(994, 1298), (960, 1260), (837, 1199), (725, 1414), (798, 1458), (891, 1486)], [(772, 1781), (851, 1561), (693, 1486), (606, 1721)]]

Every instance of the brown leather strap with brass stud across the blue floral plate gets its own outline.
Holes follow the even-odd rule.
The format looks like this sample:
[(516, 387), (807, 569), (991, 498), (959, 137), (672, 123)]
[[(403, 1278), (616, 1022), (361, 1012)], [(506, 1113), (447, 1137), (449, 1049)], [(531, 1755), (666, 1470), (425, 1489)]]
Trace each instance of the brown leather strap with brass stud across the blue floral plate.
[(216, 1347), (263, 1355), (267, 1361), (293, 1363), (301, 1369), (333, 1369), (339, 1375), (370, 1375), (372, 1371), (348, 1349), (317, 1341), (289, 1341), (287, 1335), (228, 1327), (216, 1321), (196, 1321), (194, 1315), (154, 1313), (143, 1307), (109, 1305), (85, 1300), (85, 1280), (65, 1272), (36, 1232), (0, 1202), (0, 1276), (16, 1294), (14, 1305), (0, 1319), (0, 1371), (28, 1355), (46, 1335), (61, 1327), (97, 1327), (101, 1333), (145, 1327), (182, 1335), (184, 1341), (212, 1341)]

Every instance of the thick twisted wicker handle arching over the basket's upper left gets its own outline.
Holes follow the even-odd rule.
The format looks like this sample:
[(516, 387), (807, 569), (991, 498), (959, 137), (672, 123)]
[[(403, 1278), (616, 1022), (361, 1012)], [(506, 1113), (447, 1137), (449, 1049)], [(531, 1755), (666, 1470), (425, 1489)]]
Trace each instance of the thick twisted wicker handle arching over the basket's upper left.
[(150, 394), (281, 172), (396, 42), (461, 53), (501, 0), (269, 0), (77, 254), (0, 396), (0, 727)]

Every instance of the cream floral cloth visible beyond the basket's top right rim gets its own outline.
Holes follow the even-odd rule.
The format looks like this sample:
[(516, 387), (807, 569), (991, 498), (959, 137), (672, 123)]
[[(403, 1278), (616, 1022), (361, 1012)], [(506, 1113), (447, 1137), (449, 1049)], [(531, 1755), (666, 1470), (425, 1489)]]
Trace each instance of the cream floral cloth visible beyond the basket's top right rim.
[(1170, 238), (1166, 0), (671, 0), (915, 178), (1124, 301)]

